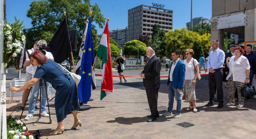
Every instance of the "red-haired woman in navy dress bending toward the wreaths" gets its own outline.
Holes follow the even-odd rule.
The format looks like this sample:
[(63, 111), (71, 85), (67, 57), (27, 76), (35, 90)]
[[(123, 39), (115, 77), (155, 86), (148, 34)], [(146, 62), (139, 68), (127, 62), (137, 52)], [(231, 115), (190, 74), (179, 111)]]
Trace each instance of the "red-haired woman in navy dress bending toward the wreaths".
[(74, 79), (61, 69), (55, 61), (49, 60), (42, 52), (34, 51), (29, 55), (30, 62), (33, 66), (39, 66), (37, 72), (29, 82), (20, 88), (11, 86), (11, 91), (22, 91), (36, 84), (40, 78), (52, 84), (56, 90), (55, 93), (55, 111), (58, 126), (50, 133), (50, 135), (57, 135), (64, 132), (63, 120), (72, 112), (74, 116), (74, 125), (71, 129), (81, 126), (81, 121), (78, 119), (77, 110), (79, 110), (77, 89)]

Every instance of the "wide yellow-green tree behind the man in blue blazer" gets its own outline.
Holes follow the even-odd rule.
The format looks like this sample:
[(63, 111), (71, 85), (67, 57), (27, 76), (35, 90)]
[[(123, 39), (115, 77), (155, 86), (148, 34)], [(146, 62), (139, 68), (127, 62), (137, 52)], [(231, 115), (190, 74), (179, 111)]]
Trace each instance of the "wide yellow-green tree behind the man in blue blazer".
[(185, 53), (185, 50), (191, 48), (194, 50), (194, 58), (198, 59), (202, 54), (208, 54), (211, 36), (210, 34), (199, 35), (197, 32), (188, 31), (186, 28), (170, 30), (165, 36), (166, 55), (170, 56), (173, 49), (180, 50), (180, 53)]

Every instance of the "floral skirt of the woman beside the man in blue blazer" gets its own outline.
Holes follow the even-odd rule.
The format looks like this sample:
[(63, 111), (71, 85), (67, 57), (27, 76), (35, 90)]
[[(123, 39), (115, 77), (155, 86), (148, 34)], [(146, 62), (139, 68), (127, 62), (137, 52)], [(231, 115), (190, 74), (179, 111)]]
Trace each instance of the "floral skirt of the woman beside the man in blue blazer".
[(192, 80), (184, 80), (183, 93), (185, 102), (191, 101), (195, 103), (195, 84), (192, 84)]

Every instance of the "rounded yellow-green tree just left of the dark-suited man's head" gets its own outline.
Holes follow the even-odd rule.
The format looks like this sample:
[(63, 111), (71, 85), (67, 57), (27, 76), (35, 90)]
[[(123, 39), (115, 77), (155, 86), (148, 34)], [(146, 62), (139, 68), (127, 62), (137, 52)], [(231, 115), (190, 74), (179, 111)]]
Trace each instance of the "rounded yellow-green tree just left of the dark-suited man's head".
[(128, 56), (138, 56), (138, 49), (139, 49), (139, 56), (146, 55), (147, 46), (143, 42), (139, 40), (131, 40), (124, 44), (124, 54)]

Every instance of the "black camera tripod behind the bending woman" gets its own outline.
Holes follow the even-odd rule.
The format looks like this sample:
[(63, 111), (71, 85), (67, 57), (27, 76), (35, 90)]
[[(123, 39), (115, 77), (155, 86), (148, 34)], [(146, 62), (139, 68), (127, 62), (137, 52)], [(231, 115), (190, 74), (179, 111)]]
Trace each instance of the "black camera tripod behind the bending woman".
[[(37, 70), (38, 70), (38, 67), (37, 67), (37, 69), (36, 69), (36, 72), (37, 72)], [(47, 86), (46, 86), (46, 81), (44, 80), (44, 88), (45, 88), (45, 92), (46, 92), (46, 99), (47, 99), (47, 105), (48, 105), (48, 112), (49, 112), (49, 122), (39, 122), (39, 120), (41, 119), (41, 101), (42, 101), (42, 87), (43, 87), (43, 79), (42, 78), (40, 78), (40, 80), (39, 80), (39, 87), (40, 87), (40, 93), (39, 93), (39, 98), (40, 98), (40, 102), (39, 102), (39, 116), (38, 116), (38, 119), (36, 120), (36, 121), (34, 121), (34, 122), (30, 122), (30, 123), (26, 123), (26, 124), (32, 124), (32, 123), (43, 123), (43, 124), (52, 124), (52, 120), (51, 120), (51, 113), (50, 113), (50, 108), (49, 108), (49, 98), (48, 98), (48, 95), (47, 95)], [(30, 94), (30, 91), (31, 91), (31, 88), (32, 87), (30, 87), (30, 89), (29, 89), (29, 93), (28, 93), (28, 95), (27, 95), (27, 98), (25, 99), (25, 104), (27, 103), (27, 101), (28, 101), (28, 98), (29, 98), (29, 94)], [(22, 112), (21, 112), (21, 115), (20, 115), (20, 119), (21, 119), (21, 116), (22, 116), (22, 114), (23, 114), (23, 111), (24, 111), (24, 109), (25, 109), (25, 107), (23, 108), (23, 110), (22, 110)]]

